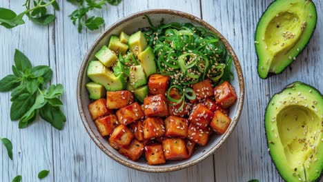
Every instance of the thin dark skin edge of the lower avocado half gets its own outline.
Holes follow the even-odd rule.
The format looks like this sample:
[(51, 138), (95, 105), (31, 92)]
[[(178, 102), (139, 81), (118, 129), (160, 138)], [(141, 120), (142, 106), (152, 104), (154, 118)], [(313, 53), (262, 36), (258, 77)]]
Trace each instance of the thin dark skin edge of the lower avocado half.
[[(280, 91), (280, 92), (277, 92), (277, 93), (273, 94), (273, 96), (271, 97), (271, 100), (269, 100), (269, 101), (268, 101), (268, 104), (266, 105), (265, 114), (264, 114), (264, 123), (266, 123), (266, 113), (267, 113), (268, 105), (272, 102), (273, 97), (274, 97), (276, 94), (280, 94), (280, 93), (284, 92), (284, 90), (285, 90), (286, 88), (291, 88), (291, 87), (293, 87), (293, 85), (294, 85), (295, 83), (300, 83), (300, 84), (302, 84), (302, 85), (306, 85), (306, 86), (308, 86), (309, 88), (311, 88), (312, 90), (315, 90), (316, 92), (318, 92), (318, 93), (320, 93), (320, 94), (322, 95), (322, 93), (321, 93), (319, 90), (317, 90), (316, 88), (314, 88), (312, 85), (309, 85), (309, 84), (303, 83), (302, 81), (294, 81), (293, 83), (286, 85), (286, 86), (282, 89), (282, 91)], [(265, 129), (265, 134), (266, 134), (266, 141), (267, 141), (266, 143), (267, 143), (267, 148), (270, 148), (270, 144), (271, 144), (271, 143), (268, 143), (268, 136), (267, 136), (266, 125), (264, 125), (264, 129)], [(321, 145), (322, 145), (322, 144), (321, 144)], [(271, 156), (271, 154), (270, 154), (270, 152), (269, 152), (269, 151), (268, 151), (268, 154), (269, 154), (269, 156)], [(271, 162), (275, 165), (275, 163), (274, 163), (274, 161), (273, 161), (273, 157), (272, 157), (272, 156), (271, 156)], [(276, 166), (276, 165), (275, 165), (275, 169), (277, 170), (278, 174), (280, 174), (281, 178), (282, 178), (284, 181), (286, 181), (286, 179), (284, 179), (284, 178), (282, 177), (283, 175), (282, 175), (282, 173), (278, 170), (278, 168), (277, 168), (277, 166)], [(322, 179), (322, 176), (323, 176), (323, 170), (322, 170), (322, 172), (321, 172), (321, 174), (320, 174), (320, 177), (318, 177), (314, 182), (319, 182), (319, 181), (320, 181), (320, 179)]]

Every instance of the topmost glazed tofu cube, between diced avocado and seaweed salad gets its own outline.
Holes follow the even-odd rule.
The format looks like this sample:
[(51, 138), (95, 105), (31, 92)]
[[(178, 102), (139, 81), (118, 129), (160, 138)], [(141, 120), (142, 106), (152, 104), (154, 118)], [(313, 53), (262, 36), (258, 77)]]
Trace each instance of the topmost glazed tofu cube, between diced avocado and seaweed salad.
[(150, 95), (165, 95), (168, 90), (169, 77), (162, 74), (152, 74), (148, 80), (148, 88)]

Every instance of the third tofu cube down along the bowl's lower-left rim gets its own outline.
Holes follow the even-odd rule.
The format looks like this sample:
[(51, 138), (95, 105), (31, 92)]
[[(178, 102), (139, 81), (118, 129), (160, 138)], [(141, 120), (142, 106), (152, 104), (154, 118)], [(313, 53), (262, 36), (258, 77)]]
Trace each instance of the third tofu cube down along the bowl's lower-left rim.
[(128, 146), (134, 137), (125, 125), (118, 125), (110, 135), (109, 143), (112, 148), (119, 150), (121, 147)]

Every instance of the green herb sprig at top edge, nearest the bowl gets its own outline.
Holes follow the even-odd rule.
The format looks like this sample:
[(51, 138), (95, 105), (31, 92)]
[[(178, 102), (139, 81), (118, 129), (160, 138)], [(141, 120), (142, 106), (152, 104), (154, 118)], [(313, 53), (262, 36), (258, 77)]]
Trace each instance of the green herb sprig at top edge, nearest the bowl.
[(97, 30), (104, 24), (102, 17), (87, 17), (88, 12), (94, 9), (101, 9), (102, 6), (109, 3), (110, 5), (118, 5), (121, 0), (68, 0), (71, 3), (76, 3), (79, 7), (69, 15), (72, 23), (77, 25), (77, 30), (81, 32), (85, 26), (89, 30)]

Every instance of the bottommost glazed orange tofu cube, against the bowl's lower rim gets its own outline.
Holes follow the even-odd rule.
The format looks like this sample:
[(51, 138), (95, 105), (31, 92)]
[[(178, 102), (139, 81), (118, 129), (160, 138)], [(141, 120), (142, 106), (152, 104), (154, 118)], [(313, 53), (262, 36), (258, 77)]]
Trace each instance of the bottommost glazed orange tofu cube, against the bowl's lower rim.
[(161, 144), (146, 145), (145, 157), (149, 165), (166, 163)]

